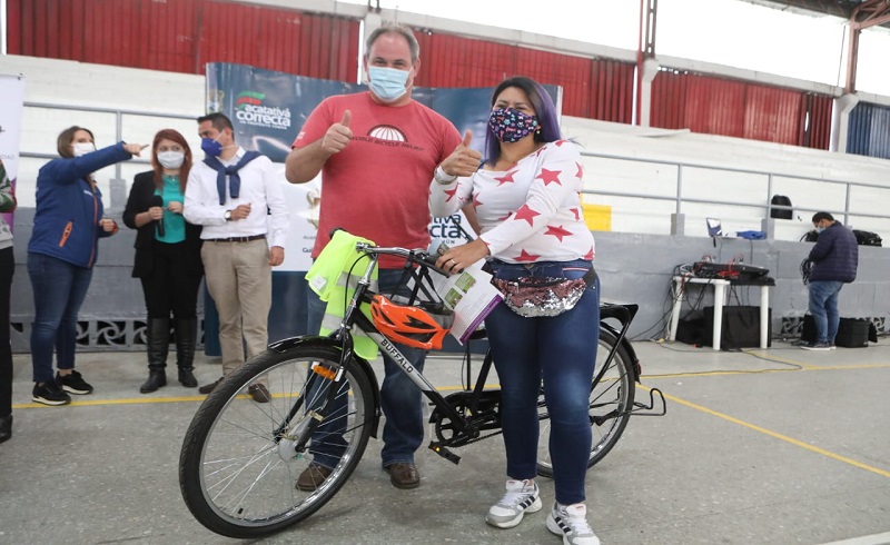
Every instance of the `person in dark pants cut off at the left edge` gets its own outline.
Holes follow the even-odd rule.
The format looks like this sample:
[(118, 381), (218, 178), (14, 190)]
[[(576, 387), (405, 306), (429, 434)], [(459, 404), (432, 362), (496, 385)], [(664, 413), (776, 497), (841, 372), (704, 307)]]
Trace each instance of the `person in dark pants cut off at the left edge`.
[[(0, 212), (16, 209), (16, 191), (0, 160)], [(12, 229), (0, 216), (0, 443), (12, 437), (12, 347), (9, 344), (9, 296), (16, 258)]]

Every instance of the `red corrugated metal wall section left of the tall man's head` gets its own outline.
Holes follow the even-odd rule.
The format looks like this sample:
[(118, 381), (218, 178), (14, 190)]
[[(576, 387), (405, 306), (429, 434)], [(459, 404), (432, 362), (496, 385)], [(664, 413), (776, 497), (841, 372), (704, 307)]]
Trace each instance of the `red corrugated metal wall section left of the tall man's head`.
[(355, 81), (359, 21), (211, 0), (7, 0), (11, 54), (204, 73), (235, 62)]

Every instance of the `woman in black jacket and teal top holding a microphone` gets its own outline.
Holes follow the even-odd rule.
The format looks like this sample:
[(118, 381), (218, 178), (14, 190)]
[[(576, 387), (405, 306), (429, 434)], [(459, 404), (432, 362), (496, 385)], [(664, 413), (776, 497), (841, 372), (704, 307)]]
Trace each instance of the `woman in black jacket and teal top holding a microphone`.
[(179, 383), (195, 388), (195, 343), (198, 335), (198, 288), (204, 276), (201, 227), (182, 217), (191, 149), (172, 129), (155, 135), (151, 170), (136, 175), (123, 222), (136, 235), (132, 276), (142, 283), (146, 298), (148, 380), (139, 392), (148, 394), (167, 385), (170, 313), (176, 334)]

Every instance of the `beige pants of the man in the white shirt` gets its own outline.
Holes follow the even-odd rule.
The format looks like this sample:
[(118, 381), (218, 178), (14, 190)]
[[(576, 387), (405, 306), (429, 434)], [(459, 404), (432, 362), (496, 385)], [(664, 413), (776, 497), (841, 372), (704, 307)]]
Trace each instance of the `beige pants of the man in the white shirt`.
[(222, 375), (244, 365), (247, 357), (266, 350), (271, 307), (271, 266), (266, 239), (214, 242), (201, 247), (207, 290), (219, 311)]

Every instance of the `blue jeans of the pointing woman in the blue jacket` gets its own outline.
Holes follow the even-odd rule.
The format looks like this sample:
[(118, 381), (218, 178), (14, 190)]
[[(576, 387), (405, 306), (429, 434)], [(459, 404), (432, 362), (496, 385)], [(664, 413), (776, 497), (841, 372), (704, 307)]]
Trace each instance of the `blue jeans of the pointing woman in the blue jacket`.
[(28, 252), (28, 276), (34, 295), (31, 329), (33, 378), (34, 383), (47, 383), (53, 380), (53, 347), (56, 366), (59, 369), (75, 368), (77, 315), (87, 297), (92, 268)]

